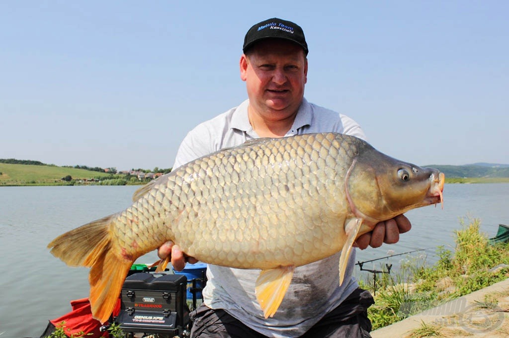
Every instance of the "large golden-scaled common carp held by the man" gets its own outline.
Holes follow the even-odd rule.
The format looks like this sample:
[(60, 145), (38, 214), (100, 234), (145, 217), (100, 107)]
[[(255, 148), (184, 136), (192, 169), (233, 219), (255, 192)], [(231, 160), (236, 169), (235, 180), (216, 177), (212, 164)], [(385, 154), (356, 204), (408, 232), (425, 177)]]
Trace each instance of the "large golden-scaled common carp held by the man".
[[(295, 267), (341, 251), (410, 209), (443, 203), (444, 174), (338, 133), (258, 138), (191, 161), (137, 190), (119, 213), (48, 244), (91, 267), (94, 318), (105, 322), (134, 261), (168, 240), (205, 263), (261, 269), (257, 299), (273, 316)], [(167, 260), (160, 262), (164, 269)]]

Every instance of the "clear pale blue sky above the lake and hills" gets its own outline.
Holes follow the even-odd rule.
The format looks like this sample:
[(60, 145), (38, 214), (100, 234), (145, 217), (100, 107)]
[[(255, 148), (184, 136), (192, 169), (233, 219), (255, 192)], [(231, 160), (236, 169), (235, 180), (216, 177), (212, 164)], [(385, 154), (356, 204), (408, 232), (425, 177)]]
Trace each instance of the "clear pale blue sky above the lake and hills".
[(171, 167), (185, 134), (246, 98), (249, 27), (309, 46), (305, 97), (418, 165), (509, 163), (506, 1), (2, 1), (0, 158)]

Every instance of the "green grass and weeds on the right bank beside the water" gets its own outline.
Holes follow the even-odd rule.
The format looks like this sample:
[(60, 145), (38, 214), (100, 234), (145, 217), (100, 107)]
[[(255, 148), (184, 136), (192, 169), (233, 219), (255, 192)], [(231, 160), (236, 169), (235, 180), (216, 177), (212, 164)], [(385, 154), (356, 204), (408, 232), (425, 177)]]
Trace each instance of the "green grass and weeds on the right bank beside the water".
[[(479, 232), (478, 219), (468, 225), (463, 223), (463, 229), (455, 235), (455, 251), (439, 247), (439, 260), (433, 266), (414, 259), (402, 264), (398, 274), (382, 275), (376, 285), (376, 303), (368, 309), (373, 329), (509, 277), (509, 244), (488, 244), (488, 237)], [(372, 286), (372, 283), (362, 283), (361, 287)]]

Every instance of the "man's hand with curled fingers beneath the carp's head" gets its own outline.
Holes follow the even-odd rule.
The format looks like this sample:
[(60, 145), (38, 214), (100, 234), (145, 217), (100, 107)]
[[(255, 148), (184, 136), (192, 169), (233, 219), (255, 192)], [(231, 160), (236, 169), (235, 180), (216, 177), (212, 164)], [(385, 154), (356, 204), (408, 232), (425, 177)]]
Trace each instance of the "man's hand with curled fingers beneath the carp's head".
[(400, 234), (406, 233), (412, 224), (405, 215), (398, 215), (392, 219), (378, 223), (373, 231), (357, 238), (354, 246), (365, 249), (368, 245), (379, 247), (383, 243), (394, 244), (400, 240)]

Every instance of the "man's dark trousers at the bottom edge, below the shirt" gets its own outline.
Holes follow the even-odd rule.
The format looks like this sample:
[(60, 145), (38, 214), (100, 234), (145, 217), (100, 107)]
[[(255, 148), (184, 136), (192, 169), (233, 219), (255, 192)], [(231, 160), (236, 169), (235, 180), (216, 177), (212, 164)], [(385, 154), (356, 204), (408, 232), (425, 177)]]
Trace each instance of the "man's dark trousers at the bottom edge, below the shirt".
[[(326, 314), (301, 338), (370, 338), (371, 322), (367, 308), (374, 304), (368, 291), (356, 289), (340, 306)], [(205, 305), (191, 313), (191, 338), (263, 338), (265, 335), (245, 326), (222, 309), (213, 310)]]

